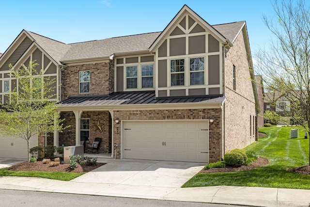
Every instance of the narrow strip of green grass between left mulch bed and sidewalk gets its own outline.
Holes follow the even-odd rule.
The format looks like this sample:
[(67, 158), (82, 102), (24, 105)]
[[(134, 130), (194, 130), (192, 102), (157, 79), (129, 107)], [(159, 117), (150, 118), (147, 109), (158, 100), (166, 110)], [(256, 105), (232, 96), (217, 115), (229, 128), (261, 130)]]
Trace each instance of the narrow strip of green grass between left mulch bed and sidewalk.
[(23, 177), (43, 177), (55, 180), (72, 180), (84, 173), (69, 173), (69, 172), (45, 172), (45, 171), (11, 171), (7, 168), (0, 169), (0, 175), (4, 176), (23, 176)]

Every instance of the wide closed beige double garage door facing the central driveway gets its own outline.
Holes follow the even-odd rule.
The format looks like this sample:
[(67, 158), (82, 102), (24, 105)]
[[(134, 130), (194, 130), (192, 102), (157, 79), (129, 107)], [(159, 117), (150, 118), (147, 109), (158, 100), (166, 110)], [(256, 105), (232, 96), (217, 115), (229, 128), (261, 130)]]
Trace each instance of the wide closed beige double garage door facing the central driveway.
[(209, 162), (208, 121), (124, 121), (124, 159)]

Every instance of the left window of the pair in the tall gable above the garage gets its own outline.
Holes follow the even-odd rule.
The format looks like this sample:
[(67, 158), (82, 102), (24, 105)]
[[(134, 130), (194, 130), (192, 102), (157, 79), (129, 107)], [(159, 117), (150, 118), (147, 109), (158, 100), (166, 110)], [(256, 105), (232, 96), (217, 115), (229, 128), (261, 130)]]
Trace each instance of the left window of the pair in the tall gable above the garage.
[(171, 60), (171, 86), (184, 85), (184, 59)]

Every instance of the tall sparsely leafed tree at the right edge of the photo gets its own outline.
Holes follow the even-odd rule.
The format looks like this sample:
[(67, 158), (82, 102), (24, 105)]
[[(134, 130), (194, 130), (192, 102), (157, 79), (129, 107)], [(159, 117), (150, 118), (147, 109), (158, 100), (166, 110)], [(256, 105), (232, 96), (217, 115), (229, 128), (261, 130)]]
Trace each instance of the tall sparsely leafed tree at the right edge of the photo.
[[(290, 101), (290, 115), (310, 132), (310, 8), (304, 0), (275, 0), (274, 17), (263, 16), (274, 39), (260, 49), (257, 66), (267, 92)], [(310, 153), (309, 153), (310, 165)]]

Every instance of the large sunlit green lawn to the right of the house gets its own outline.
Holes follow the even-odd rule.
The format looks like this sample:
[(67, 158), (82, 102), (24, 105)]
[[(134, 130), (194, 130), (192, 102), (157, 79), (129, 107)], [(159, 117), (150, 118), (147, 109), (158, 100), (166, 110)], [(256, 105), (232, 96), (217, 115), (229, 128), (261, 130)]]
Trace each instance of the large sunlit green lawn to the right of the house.
[(269, 164), (249, 171), (231, 173), (199, 173), (182, 187), (251, 186), (268, 188), (310, 189), (310, 175), (288, 172), (286, 169), (309, 165), (309, 139), (304, 139), (302, 128), (298, 138), (290, 138), (291, 127), (263, 127), (267, 135), (250, 144), (246, 151), (255, 151), (267, 158)]

